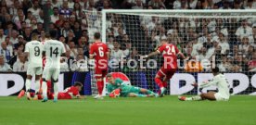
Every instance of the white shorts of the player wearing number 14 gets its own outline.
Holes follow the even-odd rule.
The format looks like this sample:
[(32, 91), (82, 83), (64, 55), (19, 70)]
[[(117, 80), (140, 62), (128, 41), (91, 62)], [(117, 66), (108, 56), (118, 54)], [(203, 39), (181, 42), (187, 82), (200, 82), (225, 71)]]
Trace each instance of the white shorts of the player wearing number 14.
[(60, 69), (44, 69), (43, 78), (44, 78), (46, 81), (50, 81), (51, 78), (52, 78), (54, 81), (57, 81), (57, 80), (58, 80), (59, 73), (60, 73)]

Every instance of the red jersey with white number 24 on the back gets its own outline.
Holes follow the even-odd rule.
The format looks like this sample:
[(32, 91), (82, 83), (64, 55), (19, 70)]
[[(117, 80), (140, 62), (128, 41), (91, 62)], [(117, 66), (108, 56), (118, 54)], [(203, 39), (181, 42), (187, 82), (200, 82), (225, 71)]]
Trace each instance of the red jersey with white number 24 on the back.
[(165, 69), (177, 69), (177, 54), (180, 53), (178, 48), (173, 44), (162, 44), (158, 49), (164, 58), (163, 67)]

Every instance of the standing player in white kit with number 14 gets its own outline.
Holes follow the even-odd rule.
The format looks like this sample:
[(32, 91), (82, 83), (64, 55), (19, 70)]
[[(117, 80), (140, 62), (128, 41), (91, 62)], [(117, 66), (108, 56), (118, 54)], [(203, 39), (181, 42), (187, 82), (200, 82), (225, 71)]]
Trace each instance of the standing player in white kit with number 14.
[(47, 40), (44, 44), (44, 51), (46, 57), (45, 69), (43, 72), (43, 95), (42, 102), (48, 101), (47, 98), (47, 84), (46, 81), (54, 83), (54, 102), (58, 101), (58, 76), (60, 73), (60, 56), (65, 55), (66, 50), (64, 45), (56, 40), (57, 31), (50, 31), (51, 39)]

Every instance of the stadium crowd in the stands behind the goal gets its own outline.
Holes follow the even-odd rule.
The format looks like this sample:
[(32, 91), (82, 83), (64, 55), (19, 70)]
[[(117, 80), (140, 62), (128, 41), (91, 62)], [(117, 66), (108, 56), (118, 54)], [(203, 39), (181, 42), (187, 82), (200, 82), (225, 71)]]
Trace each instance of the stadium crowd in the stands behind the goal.
[[(61, 71), (88, 71), (86, 60), (89, 44), (93, 42), (92, 34), (101, 30), (100, 14), (96, 13), (94, 17), (90, 11), (115, 8), (255, 9), (256, 1), (1, 0), (0, 7), (0, 71), (26, 71), (25, 44), (32, 41), (32, 33), (38, 33), (39, 40), (45, 42), (49, 30), (58, 31), (58, 40), (67, 50), (67, 61), (61, 61)], [(161, 39), (168, 39), (187, 56), (198, 56), (199, 61), (215, 56), (222, 71), (256, 70), (256, 18), (178, 19), (109, 15), (108, 19), (107, 41), (111, 59), (119, 60), (122, 56), (137, 59), (155, 50)], [(135, 21), (131, 21), (133, 19)]]

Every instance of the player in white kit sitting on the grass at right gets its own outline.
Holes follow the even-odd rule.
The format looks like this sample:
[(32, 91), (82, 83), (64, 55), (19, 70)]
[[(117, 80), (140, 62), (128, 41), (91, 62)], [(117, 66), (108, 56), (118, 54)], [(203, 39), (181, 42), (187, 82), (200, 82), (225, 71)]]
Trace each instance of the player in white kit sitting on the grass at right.
[(200, 94), (193, 97), (179, 96), (181, 101), (197, 101), (197, 100), (212, 100), (212, 101), (227, 101), (229, 99), (229, 84), (226, 81), (224, 74), (219, 72), (219, 68), (211, 69), (212, 74), (214, 75), (211, 81), (206, 81), (198, 85), (198, 83), (192, 84), (195, 87), (205, 88), (211, 85), (216, 85), (218, 88), (218, 93), (209, 92), (206, 94)]

